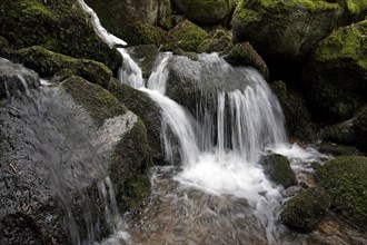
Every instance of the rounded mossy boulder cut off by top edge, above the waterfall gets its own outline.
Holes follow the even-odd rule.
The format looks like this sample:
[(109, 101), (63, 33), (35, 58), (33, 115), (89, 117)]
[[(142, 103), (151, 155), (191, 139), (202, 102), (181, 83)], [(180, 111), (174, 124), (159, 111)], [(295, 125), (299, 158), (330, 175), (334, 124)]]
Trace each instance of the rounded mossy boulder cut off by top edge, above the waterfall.
[(235, 8), (235, 0), (172, 0), (173, 7), (189, 20), (216, 23), (224, 20)]

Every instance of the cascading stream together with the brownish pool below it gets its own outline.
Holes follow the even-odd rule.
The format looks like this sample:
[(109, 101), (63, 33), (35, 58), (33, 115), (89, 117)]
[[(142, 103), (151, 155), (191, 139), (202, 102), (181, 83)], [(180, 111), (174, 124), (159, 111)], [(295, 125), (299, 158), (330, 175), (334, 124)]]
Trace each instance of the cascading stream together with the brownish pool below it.
[[(100, 26), (96, 30), (103, 30), (101, 36), (107, 32)], [(110, 37), (103, 39), (112, 43), (116, 37)], [(167, 126), (179, 141), (181, 156), (179, 169), (153, 169), (150, 202), (139, 209), (139, 219), (127, 217), (129, 242), (276, 243), (280, 188), (266, 178), (257, 161), (267, 149), (279, 149), (286, 134), (281, 108), (261, 76), (251, 68), (232, 68), (217, 55), (200, 55), (198, 61), (190, 61), (161, 53), (146, 86), (127, 50), (119, 51), (123, 56), (120, 80), (160, 106), (166, 156), (173, 164), (169, 137), (165, 137)], [(168, 66), (175, 59), (181, 62), (181, 76), (206, 80), (215, 88), (201, 94), (194, 114), (165, 95)], [(226, 82), (232, 88), (222, 88)]]

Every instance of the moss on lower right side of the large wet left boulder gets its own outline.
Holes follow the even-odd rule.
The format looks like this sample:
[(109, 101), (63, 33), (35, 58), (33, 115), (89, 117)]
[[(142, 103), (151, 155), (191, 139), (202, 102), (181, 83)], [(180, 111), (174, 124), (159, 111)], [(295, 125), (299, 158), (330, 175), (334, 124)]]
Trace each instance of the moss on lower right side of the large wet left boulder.
[(149, 195), (148, 168), (151, 166), (151, 149), (147, 130), (139, 119), (116, 146), (109, 175), (115, 183), (115, 194), (121, 213), (138, 207)]

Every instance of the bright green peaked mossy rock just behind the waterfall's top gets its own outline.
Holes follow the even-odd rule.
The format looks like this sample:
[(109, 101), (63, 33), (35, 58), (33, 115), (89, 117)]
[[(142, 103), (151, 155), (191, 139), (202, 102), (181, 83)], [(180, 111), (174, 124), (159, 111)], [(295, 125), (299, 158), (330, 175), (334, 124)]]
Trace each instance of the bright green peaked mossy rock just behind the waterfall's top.
[(168, 32), (163, 48), (177, 53), (182, 51), (198, 52), (198, 47), (207, 37), (208, 33), (200, 27), (185, 20)]

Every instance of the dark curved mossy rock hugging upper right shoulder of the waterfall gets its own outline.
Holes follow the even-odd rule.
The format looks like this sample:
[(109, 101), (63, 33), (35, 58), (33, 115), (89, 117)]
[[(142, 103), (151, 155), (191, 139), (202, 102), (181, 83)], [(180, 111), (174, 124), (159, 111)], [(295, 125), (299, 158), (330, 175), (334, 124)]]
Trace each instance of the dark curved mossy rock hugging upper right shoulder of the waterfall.
[(225, 57), (225, 60), (234, 66), (251, 66), (256, 68), (262, 77), (269, 79), (269, 70), (262, 58), (248, 42), (237, 43)]

